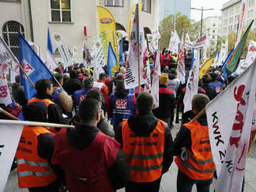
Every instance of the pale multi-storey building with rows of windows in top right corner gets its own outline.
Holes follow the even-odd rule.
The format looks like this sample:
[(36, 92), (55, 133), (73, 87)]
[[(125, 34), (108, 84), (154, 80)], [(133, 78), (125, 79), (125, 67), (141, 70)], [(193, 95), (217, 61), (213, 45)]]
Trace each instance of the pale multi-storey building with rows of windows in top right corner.
[[(222, 16), (221, 16), (221, 36), (227, 36), (230, 31), (237, 32), (237, 26), (240, 17), (240, 3), (241, 0), (230, 0), (223, 4)], [(245, 18), (245, 26), (256, 19), (256, 5), (255, 0), (247, 1), (247, 12)], [(256, 23), (254, 22), (251, 30), (256, 33)]]

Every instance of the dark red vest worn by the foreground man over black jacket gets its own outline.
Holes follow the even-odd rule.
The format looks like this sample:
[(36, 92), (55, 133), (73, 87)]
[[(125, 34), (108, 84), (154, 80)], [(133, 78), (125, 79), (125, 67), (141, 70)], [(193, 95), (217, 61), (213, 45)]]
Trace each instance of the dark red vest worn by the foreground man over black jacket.
[(61, 164), (69, 191), (113, 192), (109, 169), (116, 161), (120, 144), (103, 134), (96, 135), (85, 149), (74, 149), (68, 142), (67, 129), (55, 136), (55, 149), (51, 162)]

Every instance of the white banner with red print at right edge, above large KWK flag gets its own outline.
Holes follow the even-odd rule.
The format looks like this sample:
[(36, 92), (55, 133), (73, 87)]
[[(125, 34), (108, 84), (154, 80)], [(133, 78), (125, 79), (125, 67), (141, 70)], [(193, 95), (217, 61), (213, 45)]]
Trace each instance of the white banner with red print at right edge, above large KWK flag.
[(244, 62), (240, 63), (240, 65), (237, 67), (237, 72), (239, 74), (242, 74), (244, 70), (247, 69), (251, 65), (251, 63), (254, 62), (256, 58), (256, 42), (253, 40), (250, 41), (250, 44), (248, 46), (247, 56), (244, 60)]

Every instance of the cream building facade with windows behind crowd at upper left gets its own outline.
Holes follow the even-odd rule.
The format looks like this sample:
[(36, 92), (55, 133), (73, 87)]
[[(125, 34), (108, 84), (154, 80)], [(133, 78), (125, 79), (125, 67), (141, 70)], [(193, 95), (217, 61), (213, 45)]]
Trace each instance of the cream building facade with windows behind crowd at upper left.
[[(0, 0), (0, 33), (5, 42), (18, 55), (18, 32), (36, 43), (43, 51), (47, 49), (47, 28), (50, 33), (61, 33), (69, 50), (77, 47), (76, 62), (81, 61), (84, 43), (92, 46), (99, 39), (97, 6), (112, 12), (116, 29), (127, 29), (130, 9), (143, 2), (142, 25), (147, 33), (158, 29), (159, 0)], [(6, 28), (6, 26), (8, 26)], [(60, 60), (57, 46), (53, 42), (54, 57)]]

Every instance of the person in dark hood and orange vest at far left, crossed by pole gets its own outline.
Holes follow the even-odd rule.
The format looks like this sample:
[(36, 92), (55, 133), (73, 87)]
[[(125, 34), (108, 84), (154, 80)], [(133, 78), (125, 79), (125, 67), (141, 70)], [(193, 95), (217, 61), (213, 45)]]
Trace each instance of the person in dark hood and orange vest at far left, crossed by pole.
[[(26, 121), (47, 122), (47, 106), (33, 102), (23, 109)], [(60, 173), (50, 165), (54, 153), (54, 134), (41, 126), (24, 126), (16, 151), (19, 188), (30, 192), (57, 192)]]

